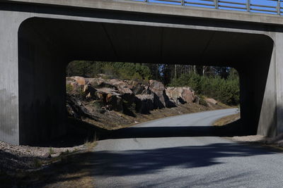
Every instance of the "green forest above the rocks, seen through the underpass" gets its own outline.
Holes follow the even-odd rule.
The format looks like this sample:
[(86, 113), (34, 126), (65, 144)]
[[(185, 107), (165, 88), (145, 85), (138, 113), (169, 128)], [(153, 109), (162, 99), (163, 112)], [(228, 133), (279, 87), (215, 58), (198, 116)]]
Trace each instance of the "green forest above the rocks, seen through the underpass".
[(106, 75), (107, 79), (143, 83), (158, 80), (166, 87), (191, 87), (199, 96), (212, 97), (230, 106), (240, 103), (239, 76), (234, 68), (101, 61), (72, 61), (67, 66), (67, 77), (97, 77), (98, 74)]

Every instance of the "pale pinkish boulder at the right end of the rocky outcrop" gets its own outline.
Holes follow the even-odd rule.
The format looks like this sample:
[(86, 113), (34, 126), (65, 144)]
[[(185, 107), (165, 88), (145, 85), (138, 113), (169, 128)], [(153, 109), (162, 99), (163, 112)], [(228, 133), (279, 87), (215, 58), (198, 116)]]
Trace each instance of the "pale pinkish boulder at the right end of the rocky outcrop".
[(167, 87), (166, 95), (174, 104), (192, 104), (196, 100), (195, 92), (190, 87)]

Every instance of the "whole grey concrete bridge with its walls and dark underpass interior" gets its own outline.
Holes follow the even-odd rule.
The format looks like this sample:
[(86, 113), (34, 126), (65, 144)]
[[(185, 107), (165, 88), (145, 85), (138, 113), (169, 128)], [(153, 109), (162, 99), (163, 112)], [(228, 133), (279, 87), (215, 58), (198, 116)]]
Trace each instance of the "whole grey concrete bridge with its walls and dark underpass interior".
[(247, 10), (0, 1), (0, 139), (37, 144), (64, 134), (65, 68), (73, 60), (231, 66), (241, 78), (242, 128), (282, 133), (281, 7), (279, 15)]

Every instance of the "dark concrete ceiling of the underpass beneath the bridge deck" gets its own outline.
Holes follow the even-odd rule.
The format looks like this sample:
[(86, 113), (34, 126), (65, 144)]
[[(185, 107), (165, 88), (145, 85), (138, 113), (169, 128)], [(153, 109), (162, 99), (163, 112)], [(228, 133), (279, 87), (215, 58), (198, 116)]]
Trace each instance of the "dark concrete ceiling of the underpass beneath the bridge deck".
[(36, 30), (69, 61), (126, 61), (241, 66), (271, 53), (265, 35), (171, 27), (31, 18), (21, 29)]

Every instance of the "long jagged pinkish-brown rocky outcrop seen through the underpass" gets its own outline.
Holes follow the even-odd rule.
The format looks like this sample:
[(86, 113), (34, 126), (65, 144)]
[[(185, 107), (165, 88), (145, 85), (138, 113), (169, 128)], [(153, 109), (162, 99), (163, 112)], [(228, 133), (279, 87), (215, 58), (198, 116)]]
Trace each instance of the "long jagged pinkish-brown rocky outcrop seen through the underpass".
[(190, 87), (166, 88), (156, 80), (141, 83), (133, 80), (105, 80), (102, 77), (67, 77), (67, 95), (71, 96), (67, 100), (69, 113), (85, 114), (88, 117), (91, 117), (92, 108), (100, 108), (101, 113), (109, 110), (146, 114), (158, 108), (199, 101)]

